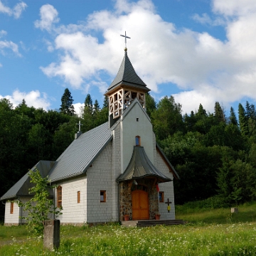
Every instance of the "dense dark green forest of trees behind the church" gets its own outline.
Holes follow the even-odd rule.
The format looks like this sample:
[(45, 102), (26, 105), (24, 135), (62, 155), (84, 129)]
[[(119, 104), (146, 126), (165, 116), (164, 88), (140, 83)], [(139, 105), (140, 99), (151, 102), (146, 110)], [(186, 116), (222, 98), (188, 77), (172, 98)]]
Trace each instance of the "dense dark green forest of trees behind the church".
[[(176, 203), (215, 198), (228, 206), (255, 200), (255, 105), (239, 104), (238, 119), (232, 107), (227, 114), (219, 102), (213, 113), (199, 105), (196, 112), (182, 114), (174, 97), (156, 103), (146, 95), (146, 112), (156, 141), (181, 178), (174, 180)], [(73, 141), (79, 120), (82, 132), (107, 122), (107, 98), (100, 107), (88, 94), (78, 114), (68, 88), (59, 110), (28, 107), (25, 100), (14, 108), (0, 100), (1, 196), (39, 160), (56, 160)]]

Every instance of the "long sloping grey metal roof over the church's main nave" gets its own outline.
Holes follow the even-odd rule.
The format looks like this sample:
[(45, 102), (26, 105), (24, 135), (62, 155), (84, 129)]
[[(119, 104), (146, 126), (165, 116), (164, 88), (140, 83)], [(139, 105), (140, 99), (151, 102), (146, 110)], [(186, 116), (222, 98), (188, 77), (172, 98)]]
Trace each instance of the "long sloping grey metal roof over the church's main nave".
[(112, 132), (108, 127), (108, 122), (105, 122), (75, 139), (50, 170), (50, 181), (60, 181), (85, 173), (112, 139)]

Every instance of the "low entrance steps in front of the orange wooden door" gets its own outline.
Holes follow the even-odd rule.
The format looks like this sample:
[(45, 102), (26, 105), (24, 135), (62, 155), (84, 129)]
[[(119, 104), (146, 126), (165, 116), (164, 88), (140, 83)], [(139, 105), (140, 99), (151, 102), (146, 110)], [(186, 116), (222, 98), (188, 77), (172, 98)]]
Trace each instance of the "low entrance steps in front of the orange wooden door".
[(125, 227), (149, 227), (154, 225), (183, 225), (183, 220), (128, 220), (122, 221)]

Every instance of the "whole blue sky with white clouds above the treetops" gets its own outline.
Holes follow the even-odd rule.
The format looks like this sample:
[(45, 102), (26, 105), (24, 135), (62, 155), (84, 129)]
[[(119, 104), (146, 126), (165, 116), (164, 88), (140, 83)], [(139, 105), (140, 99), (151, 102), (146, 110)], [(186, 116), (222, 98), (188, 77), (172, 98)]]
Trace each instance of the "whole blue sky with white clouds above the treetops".
[(256, 104), (255, 0), (0, 0), (0, 98), (58, 110), (68, 87), (78, 114), (87, 93), (102, 105), (125, 31), (156, 101)]

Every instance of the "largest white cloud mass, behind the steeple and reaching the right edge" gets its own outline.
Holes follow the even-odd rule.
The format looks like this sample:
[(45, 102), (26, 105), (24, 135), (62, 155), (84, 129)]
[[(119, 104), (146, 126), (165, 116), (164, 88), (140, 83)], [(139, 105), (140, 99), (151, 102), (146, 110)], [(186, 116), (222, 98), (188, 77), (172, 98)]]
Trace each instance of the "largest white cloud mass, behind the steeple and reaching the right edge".
[[(211, 14), (193, 18), (225, 26), (225, 41), (207, 32), (177, 29), (156, 13), (150, 0), (117, 0), (114, 11), (90, 14), (84, 26), (53, 25), (58, 11), (42, 6), (38, 28), (54, 28), (58, 33), (50, 50), (57, 51), (59, 58), (41, 69), (76, 89), (95, 85), (104, 90), (107, 86), (102, 82), (111, 82), (117, 74), (124, 55), (119, 35), (127, 31), (128, 55), (139, 76), (155, 95), (165, 94), (163, 86), (159, 90), (161, 84), (166, 90), (171, 84), (183, 90), (175, 95), (183, 112), (197, 109), (200, 103), (212, 111), (215, 101), (230, 105), (243, 97), (256, 100), (256, 2), (213, 0), (212, 6), (214, 20)], [(95, 33), (100, 33), (102, 42)]]

